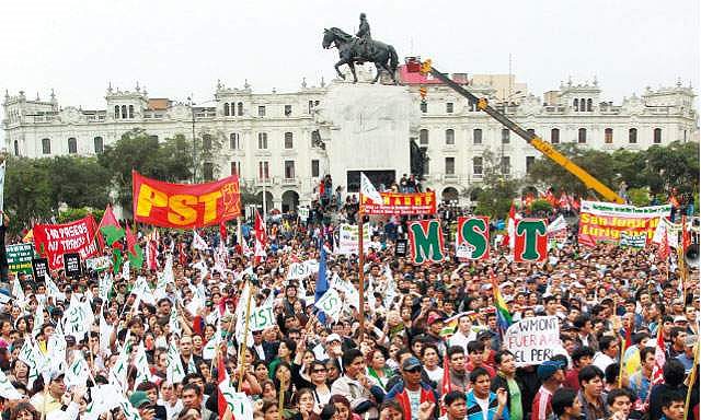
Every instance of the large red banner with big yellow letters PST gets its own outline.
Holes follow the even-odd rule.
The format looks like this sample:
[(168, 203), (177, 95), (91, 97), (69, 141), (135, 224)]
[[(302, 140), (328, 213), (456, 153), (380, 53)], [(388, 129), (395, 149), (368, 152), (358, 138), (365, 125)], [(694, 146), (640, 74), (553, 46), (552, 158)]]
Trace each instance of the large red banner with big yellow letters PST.
[(239, 177), (206, 184), (169, 184), (131, 173), (134, 217), (161, 228), (204, 228), (241, 215)]

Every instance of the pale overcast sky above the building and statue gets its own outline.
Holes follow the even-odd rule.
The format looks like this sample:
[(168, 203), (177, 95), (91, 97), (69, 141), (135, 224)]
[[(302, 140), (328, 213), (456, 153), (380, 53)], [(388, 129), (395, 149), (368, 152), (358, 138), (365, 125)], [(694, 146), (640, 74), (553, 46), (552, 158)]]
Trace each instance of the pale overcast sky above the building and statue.
[(330, 81), (323, 28), (357, 30), (400, 58), (445, 72), (513, 72), (529, 91), (596, 74), (604, 100), (645, 86), (699, 86), (699, 0), (528, 1), (9, 1), (0, 15), (0, 89), (61, 106), (104, 108), (108, 82), (151, 97), (211, 100), (217, 79), (255, 92)]

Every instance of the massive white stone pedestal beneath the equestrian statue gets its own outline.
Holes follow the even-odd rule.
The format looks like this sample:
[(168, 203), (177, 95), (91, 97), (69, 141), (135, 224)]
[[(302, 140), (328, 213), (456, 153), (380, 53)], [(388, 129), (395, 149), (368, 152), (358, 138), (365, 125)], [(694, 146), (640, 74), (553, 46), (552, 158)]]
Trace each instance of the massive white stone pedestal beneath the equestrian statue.
[[(410, 137), (416, 137), (418, 103), (404, 86), (334, 82), (318, 115), (334, 189), (348, 192), (348, 172), (410, 173)], [(388, 185), (389, 187), (389, 185)]]

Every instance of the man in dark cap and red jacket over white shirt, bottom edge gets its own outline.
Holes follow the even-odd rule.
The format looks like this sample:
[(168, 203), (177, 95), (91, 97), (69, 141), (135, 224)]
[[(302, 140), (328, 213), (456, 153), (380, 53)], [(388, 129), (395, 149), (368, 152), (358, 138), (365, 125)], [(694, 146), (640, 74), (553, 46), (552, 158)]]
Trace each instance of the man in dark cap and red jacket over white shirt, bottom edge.
[[(404, 411), (404, 419), (417, 420), (418, 407), (424, 402), (438, 404), (438, 393), (421, 380), (423, 368), (421, 361), (410, 357), (402, 363), (402, 381), (397, 383), (384, 396), (384, 399), (397, 399)], [(438, 418), (434, 410), (433, 418)]]

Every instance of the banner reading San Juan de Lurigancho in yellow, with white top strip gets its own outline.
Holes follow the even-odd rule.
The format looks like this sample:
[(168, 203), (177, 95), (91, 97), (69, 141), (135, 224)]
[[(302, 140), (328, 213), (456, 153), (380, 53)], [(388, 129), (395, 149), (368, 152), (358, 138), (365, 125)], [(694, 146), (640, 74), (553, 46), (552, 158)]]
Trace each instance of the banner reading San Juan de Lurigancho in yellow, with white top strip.
[(645, 233), (653, 238), (660, 217), (669, 215), (671, 206), (634, 207), (599, 201), (582, 201), (579, 244), (595, 246), (597, 242), (618, 244), (621, 232)]

